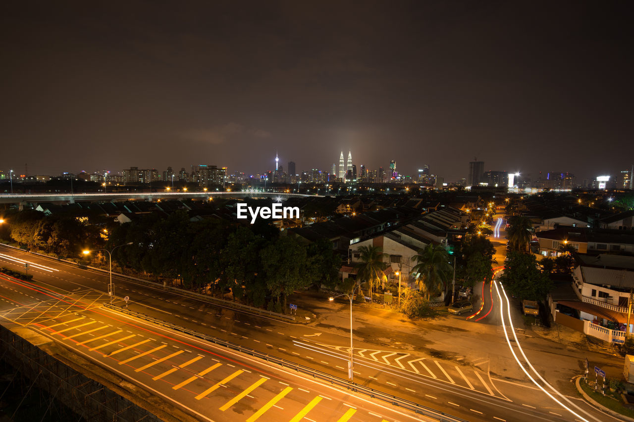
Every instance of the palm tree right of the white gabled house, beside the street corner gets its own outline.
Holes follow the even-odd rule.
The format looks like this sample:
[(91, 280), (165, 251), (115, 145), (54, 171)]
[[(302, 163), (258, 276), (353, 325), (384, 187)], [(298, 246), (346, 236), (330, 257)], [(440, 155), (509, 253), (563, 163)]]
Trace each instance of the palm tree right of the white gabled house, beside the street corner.
[(449, 264), (449, 254), (444, 246), (430, 243), (424, 249), (418, 250), (418, 255), (414, 255), (411, 259), (418, 262), (411, 272), (414, 274), (418, 288), (427, 299), (447, 291), (453, 268)]

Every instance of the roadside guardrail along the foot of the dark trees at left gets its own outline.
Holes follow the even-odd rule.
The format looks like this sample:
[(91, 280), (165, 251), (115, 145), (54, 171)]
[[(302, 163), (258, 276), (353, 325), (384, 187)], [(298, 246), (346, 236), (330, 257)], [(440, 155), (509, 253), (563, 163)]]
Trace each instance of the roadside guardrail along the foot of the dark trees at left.
[[(12, 248), (12, 249), (20, 250), (22, 252), (28, 252), (23, 250), (22, 248), (16, 248), (15, 246), (12, 246), (12, 245), (6, 245), (6, 243), (0, 243), (0, 245), (7, 246), (8, 248)], [(77, 264), (77, 262), (73, 262), (73, 261), (69, 261), (69, 260), (61, 259), (61, 258), (50, 257), (49, 255), (44, 255), (44, 253), (39, 253), (39, 252), (29, 252), (29, 253), (31, 253), (32, 255), (39, 255), (40, 257), (53, 259), (60, 262), (66, 262), (67, 264), (77, 265), (77, 267), (86, 267), (94, 271), (100, 271), (100, 272), (104, 272), (105, 274), (109, 274), (108, 270), (105, 270), (103, 268), (91, 267), (90, 265)], [(112, 275), (117, 276), (119, 278), (125, 278), (131, 281), (136, 281), (138, 283), (143, 283), (145, 285), (152, 286), (155, 288), (162, 288), (164, 290), (169, 290), (169, 291), (172, 291), (173, 293), (195, 298), (197, 300), (202, 300), (203, 302), (207, 302), (212, 305), (219, 305), (219, 306), (223, 306), (223, 307), (235, 309), (235, 310), (243, 310), (246, 312), (251, 312), (261, 316), (268, 316), (275, 319), (285, 319), (287, 321), (295, 321), (295, 316), (292, 316), (292, 315), (280, 314), (278, 312), (273, 312), (271, 310), (260, 309), (260, 308), (252, 307), (249, 305), (240, 304), (239, 302), (231, 302), (230, 300), (224, 300), (224, 299), (219, 299), (216, 297), (210, 297), (207, 295), (201, 295), (200, 293), (195, 293), (193, 291), (179, 289), (178, 287), (164, 286), (161, 283), (155, 283), (154, 281), (144, 280), (142, 278), (136, 278), (133, 276), (126, 276), (126, 274), (120, 274), (119, 272), (112, 272)]]

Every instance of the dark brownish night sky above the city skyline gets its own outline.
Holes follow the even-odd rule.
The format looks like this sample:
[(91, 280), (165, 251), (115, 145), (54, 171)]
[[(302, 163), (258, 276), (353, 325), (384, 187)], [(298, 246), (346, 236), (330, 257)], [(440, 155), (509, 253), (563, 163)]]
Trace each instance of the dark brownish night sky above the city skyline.
[(628, 3), (5, 1), (0, 170), (630, 169)]

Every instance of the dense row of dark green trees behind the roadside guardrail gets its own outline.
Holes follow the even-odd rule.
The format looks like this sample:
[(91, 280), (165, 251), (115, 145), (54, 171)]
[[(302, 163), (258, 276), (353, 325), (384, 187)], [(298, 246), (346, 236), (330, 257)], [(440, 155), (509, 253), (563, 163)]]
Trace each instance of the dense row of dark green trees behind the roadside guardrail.
[(341, 259), (330, 241), (304, 245), (269, 224), (240, 226), (220, 219), (191, 222), (186, 212), (148, 215), (117, 227), (113, 259), (137, 271), (180, 279), (184, 288), (280, 312), (294, 290), (334, 287)]

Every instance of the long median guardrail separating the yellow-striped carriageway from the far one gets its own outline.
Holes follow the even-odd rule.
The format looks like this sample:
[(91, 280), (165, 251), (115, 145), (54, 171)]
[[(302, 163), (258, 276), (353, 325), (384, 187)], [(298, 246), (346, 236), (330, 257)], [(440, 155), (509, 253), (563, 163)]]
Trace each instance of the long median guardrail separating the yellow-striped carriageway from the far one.
[(429, 416), (430, 418), (435, 418), (441, 422), (467, 422), (465, 419), (455, 418), (454, 416), (451, 416), (441, 411), (436, 411), (427, 406), (422, 406), (415, 402), (411, 402), (410, 400), (401, 399), (399, 397), (396, 397), (395, 395), (380, 392), (378, 390), (375, 390), (374, 388), (365, 387), (365, 385), (360, 385), (352, 381), (342, 380), (342, 378), (338, 378), (336, 376), (332, 376), (327, 373), (317, 371), (316, 369), (311, 369), (311, 368), (308, 368), (307, 366), (303, 366), (295, 362), (287, 361), (286, 359), (281, 359), (280, 357), (275, 357), (266, 353), (258, 352), (255, 349), (244, 347), (236, 343), (228, 342), (227, 340), (223, 340), (222, 338), (217, 338), (217, 337), (210, 336), (204, 333), (200, 333), (198, 331), (194, 331), (193, 329), (188, 329), (176, 324), (168, 323), (167, 321), (163, 321), (162, 319), (141, 314), (140, 312), (136, 312), (134, 310), (123, 309), (121, 307), (110, 305), (110, 304), (104, 304), (103, 307), (115, 310), (117, 312), (122, 312), (123, 314), (127, 314), (139, 319), (143, 319), (144, 321), (148, 321), (150, 323), (157, 324), (165, 328), (179, 331), (181, 333), (193, 336), (195, 338), (199, 338), (200, 340), (205, 340), (207, 342), (214, 343), (216, 345), (226, 347), (231, 350), (235, 350), (236, 352), (244, 353), (252, 357), (257, 357), (258, 359), (262, 359), (267, 362), (272, 362), (274, 364), (281, 366), (282, 368), (293, 369), (294, 371), (297, 371), (298, 373), (312, 376), (313, 378), (316, 378), (318, 380), (328, 382), (331, 385), (336, 385), (337, 387), (346, 388), (347, 390), (351, 390), (353, 392), (363, 393), (372, 398), (376, 398), (376, 399), (383, 400), (384, 402), (388, 402), (394, 406), (403, 407), (403, 409), (407, 409), (417, 414), (424, 414), (425, 416)]

